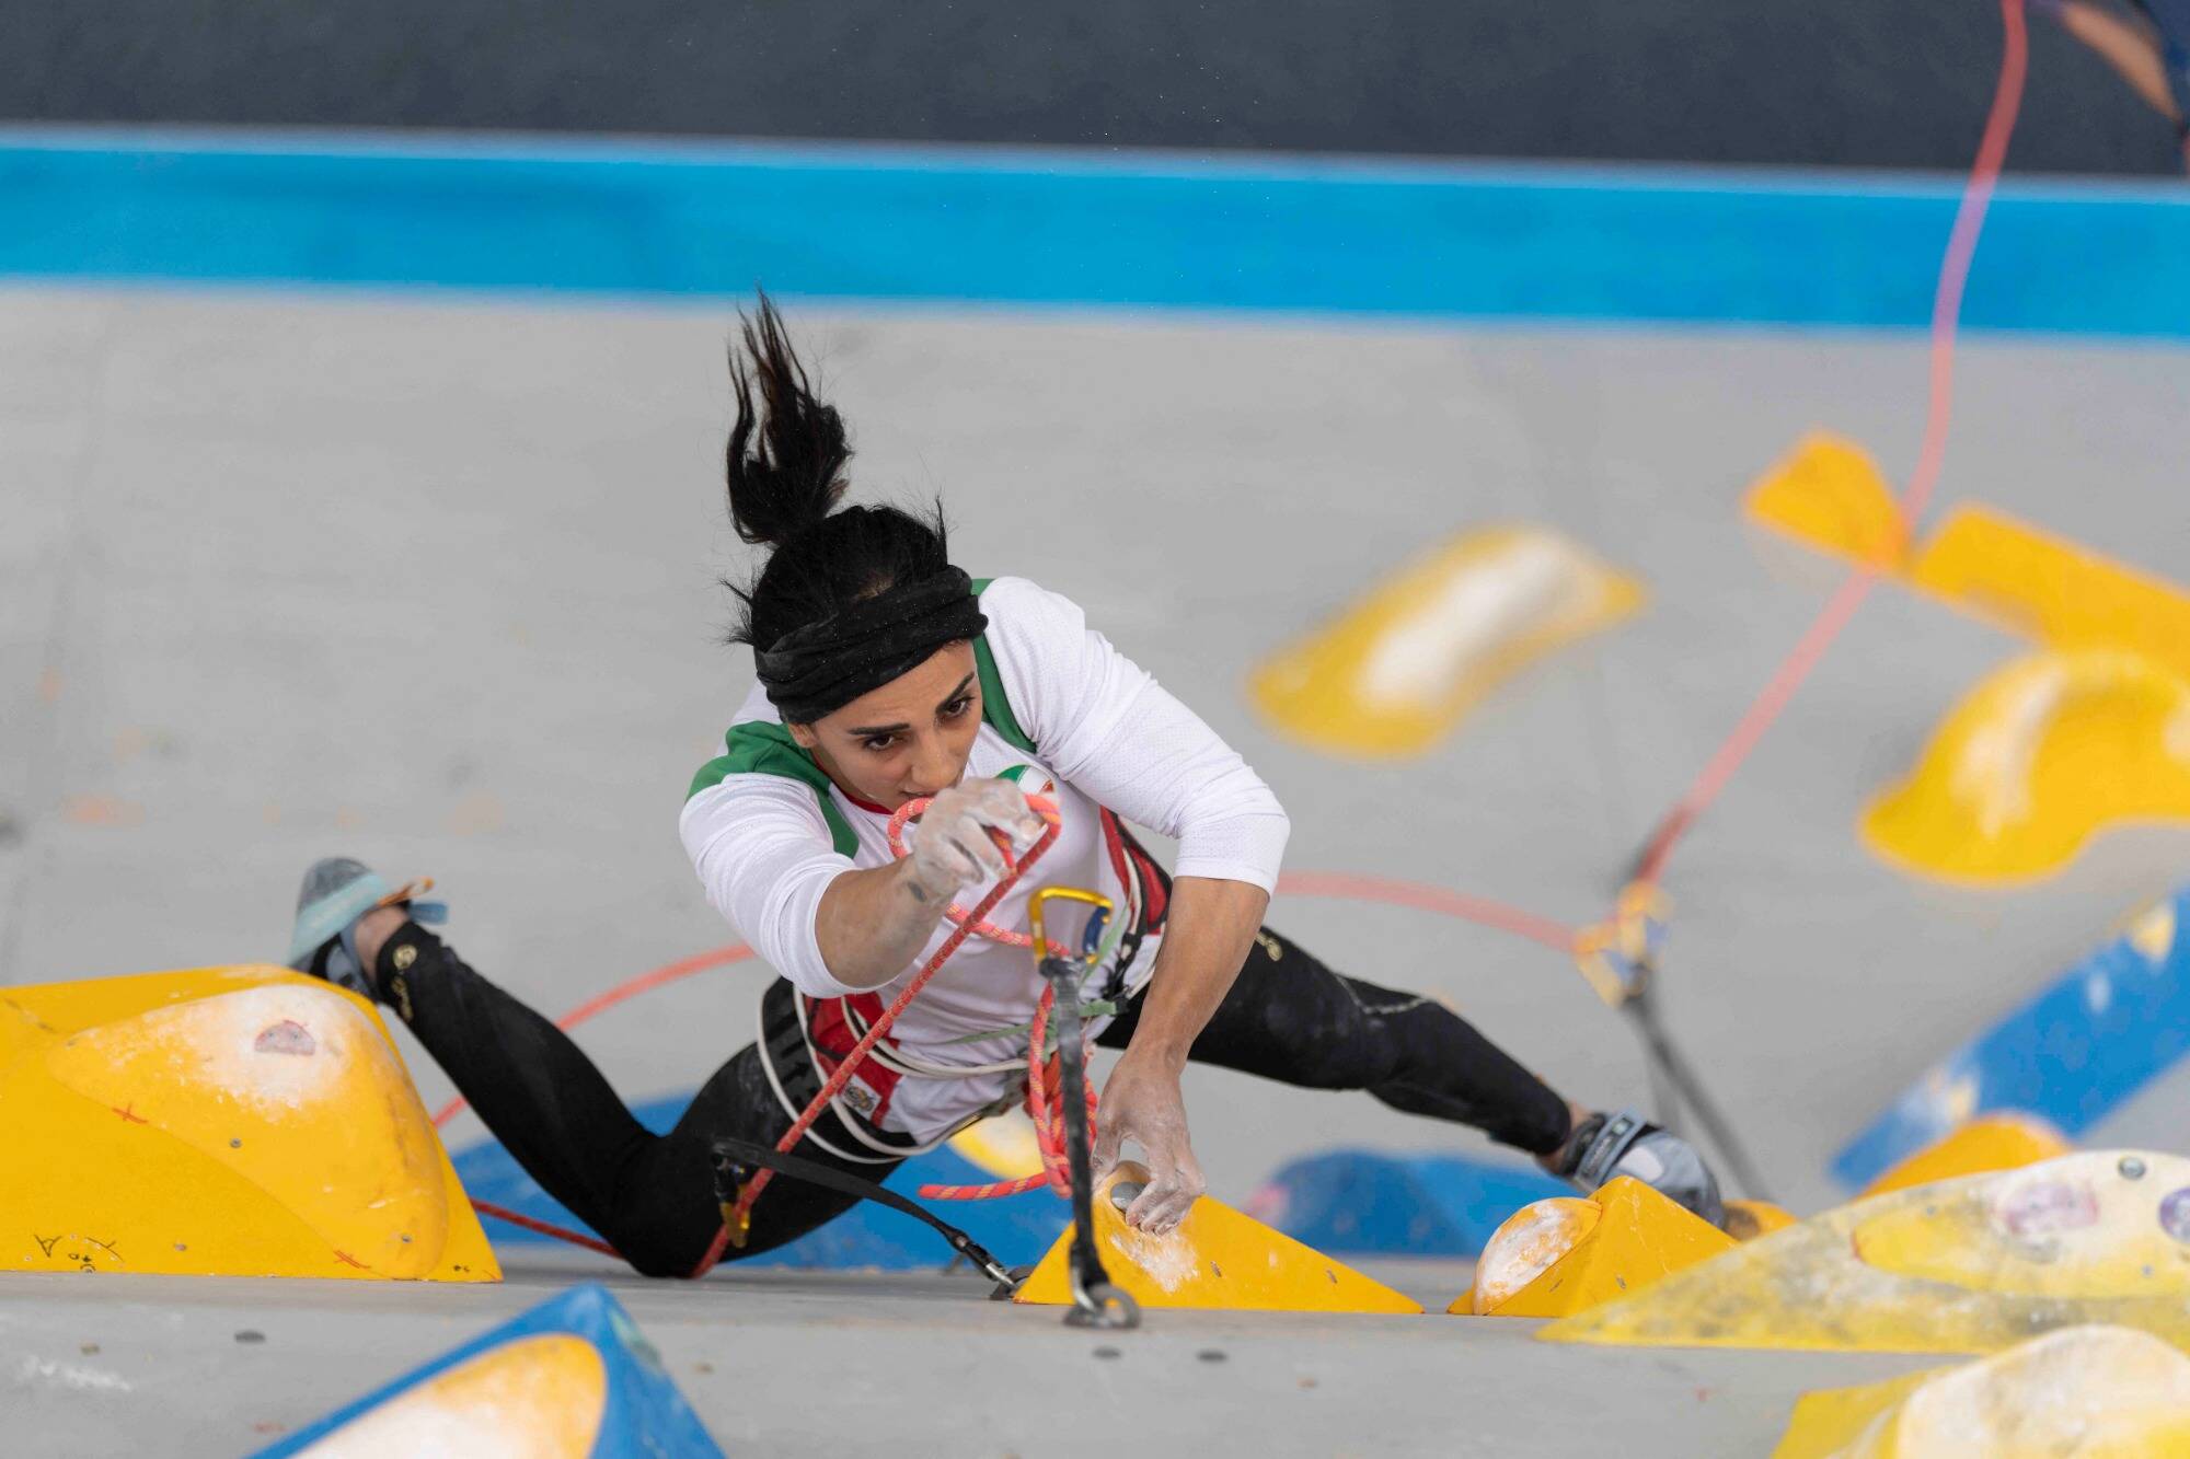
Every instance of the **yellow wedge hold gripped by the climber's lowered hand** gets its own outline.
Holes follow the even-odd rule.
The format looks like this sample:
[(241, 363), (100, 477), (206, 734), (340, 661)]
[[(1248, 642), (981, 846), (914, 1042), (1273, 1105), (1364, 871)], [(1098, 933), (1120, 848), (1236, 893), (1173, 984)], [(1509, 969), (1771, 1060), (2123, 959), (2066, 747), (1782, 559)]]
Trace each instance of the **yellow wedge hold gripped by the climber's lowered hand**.
[[(1209, 1196), (1194, 1203), (1176, 1231), (1134, 1231), (1123, 1216), (1123, 1205), (1130, 1205), (1123, 1196), (1130, 1192), (1117, 1187), (1145, 1183), (1148, 1170), (1121, 1161), (1095, 1190), (1095, 1251), (1110, 1284), (1143, 1308), (1421, 1312), (1413, 1297)], [(1067, 1227), (1014, 1301), (1071, 1303), (1071, 1240), (1073, 1231)]]

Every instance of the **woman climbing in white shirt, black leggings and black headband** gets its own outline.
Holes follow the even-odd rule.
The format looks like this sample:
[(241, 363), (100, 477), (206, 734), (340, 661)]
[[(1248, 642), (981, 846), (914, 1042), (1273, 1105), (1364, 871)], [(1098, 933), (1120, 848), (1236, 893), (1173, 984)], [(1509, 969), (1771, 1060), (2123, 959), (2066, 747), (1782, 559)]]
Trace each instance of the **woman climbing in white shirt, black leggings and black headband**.
[[(1202, 1192), (1180, 1069), (1194, 1058), (1485, 1130), (1594, 1190), (1638, 1176), (1721, 1220), (1702, 1159), (1636, 1115), (1553, 1093), (1437, 999), (1329, 970), (1261, 924), (1288, 822), (1187, 705), (1025, 578), (968, 581), (940, 513), (845, 506), (843, 418), (815, 397), (762, 298), (731, 353), (729, 515), (773, 548), (734, 642), (758, 686), (692, 780), (681, 832), (714, 907), (780, 975), (760, 1038), (668, 1135), (639, 1126), (548, 1019), (471, 970), (420, 922), (442, 909), (348, 859), (304, 876), (291, 960), (396, 1010), (486, 1126), (556, 1200), (642, 1273), (721, 1249), (712, 1139), (775, 1144), (885, 997), (1058, 813), (1058, 839), (990, 911), (1027, 927), (1040, 885), (1117, 905), (1084, 988), (1102, 1089), (1097, 1172), (1123, 1144), (1152, 1179), (1126, 1211), (1169, 1231)], [(926, 802), (918, 822), (891, 815)], [(1126, 824), (1176, 837), (1167, 874)], [(896, 846), (894, 846), (896, 839)], [(1108, 938), (1106, 938), (1108, 940)], [(1025, 946), (972, 935), (913, 999), (795, 1154), (883, 1179), (1021, 1098), (1042, 981)], [(854, 1203), (797, 1179), (751, 1211), (745, 1255)]]

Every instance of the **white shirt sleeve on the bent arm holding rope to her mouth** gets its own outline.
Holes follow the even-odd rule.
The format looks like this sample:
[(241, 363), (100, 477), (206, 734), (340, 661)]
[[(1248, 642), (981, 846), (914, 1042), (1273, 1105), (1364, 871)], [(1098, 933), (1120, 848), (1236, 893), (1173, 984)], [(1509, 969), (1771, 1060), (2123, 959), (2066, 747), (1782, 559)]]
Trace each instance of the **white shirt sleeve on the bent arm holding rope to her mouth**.
[(821, 960), (821, 894), (852, 861), (832, 848), (810, 786), (725, 776), (685, 802), (677, 830), (707, 900), (769, 966), (808, 997), (858, 992)]

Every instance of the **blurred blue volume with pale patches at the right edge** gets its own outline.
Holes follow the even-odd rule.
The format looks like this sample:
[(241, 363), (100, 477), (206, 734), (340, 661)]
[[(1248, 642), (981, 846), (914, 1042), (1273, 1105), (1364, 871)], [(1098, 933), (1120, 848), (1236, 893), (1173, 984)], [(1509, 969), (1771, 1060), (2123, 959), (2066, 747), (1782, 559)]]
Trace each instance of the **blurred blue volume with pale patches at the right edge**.
[(1833, 1174), (1859, 1190), (1989, 1111), (2043, 1115), (2065, 1135), (2080, 1135), (2183, 1054), (2190, 1054), (2190, 887), (1927, 1069), (1848, 1141), (1833, 1159)]

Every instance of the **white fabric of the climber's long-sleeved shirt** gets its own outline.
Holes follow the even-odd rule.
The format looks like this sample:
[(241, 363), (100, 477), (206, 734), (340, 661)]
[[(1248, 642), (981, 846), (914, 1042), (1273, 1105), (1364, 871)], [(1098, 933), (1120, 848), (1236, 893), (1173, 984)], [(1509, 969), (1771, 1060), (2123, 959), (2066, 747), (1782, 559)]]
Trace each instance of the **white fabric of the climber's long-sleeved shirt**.
[[(1025, 767), (1021, 784), (1040, 789), (1049, 782), (1062, 822), (1056, 843), (1012, 887), (990, 922), (1025, 931), (1027, 898), (1042, 885), (1093, 887), (1119, 898), (1099, 806), (1174, 837), (1176, 876), (1246, 881), (1264, 892), (1277, 887), (1290, 830), (1286, 811), (1194, 710), (1088, 629), (1086, 613), (1060, 594), (1025, 578), (996, 578), (981, 594), (981, 611), (1010, 714), (1036, 749), (1018, 749), (983, 723), (966, 776), (1003, 776)], [(738, 725), (780, 723), (766, 692), (756, 686), (738, 710)], [(734, 751), (738, 725), (729, 732)], [(679, 830), (716, 911), (802, 992), (839, 997), (858, 990), (839, 981), (821, 957), (821, 894), (848, 870), (889, 865), (889, 815), (854, 802), (834, 784), (815, 784), (819, 776), (810, 767), (799, 769), (806, 778), (745, 769), (742, 762), (714, 778), (703, 771)], [(850, 830), (850, 854), (839, 850), (837, 826), (821, 808), (823, 795), (837, 826)], [(981, 887), (966, 887), (959, 903), (972, 905), (979, 896)], [(940, 922), (920, 957), (876, 992), (885, 1001), (894, 997), (948, 933), (950, 924)], [(1128, 988), (1148, 979), (1154, 949), (1154, 938), (1141, 944), (1134, 966), (1126, 970)], [(953, 1041), (1027, 1023), (1040, 992), (1042, 979), (1027, 949), (968, 938), (904, 1010), (891, 1036), (907, 1054), (933, 1065), (1001, 1062), (1023, 1054), (1023, 1036), (1016, 1047), (1010, 1036)], [(1005, 1076), (907, 1078), (883, 1126), (931, 1139), (994, 1102), (1005, 1082)]]

